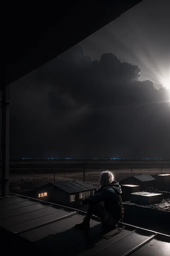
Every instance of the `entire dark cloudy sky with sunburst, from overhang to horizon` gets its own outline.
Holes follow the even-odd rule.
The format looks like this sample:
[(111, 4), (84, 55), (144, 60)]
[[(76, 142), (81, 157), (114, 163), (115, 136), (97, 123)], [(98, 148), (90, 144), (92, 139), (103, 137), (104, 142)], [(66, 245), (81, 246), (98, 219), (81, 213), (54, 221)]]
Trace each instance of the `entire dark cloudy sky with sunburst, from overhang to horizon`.
[(141, 2), (11, 84), (11, 158), (170, 158), (168, 2)]

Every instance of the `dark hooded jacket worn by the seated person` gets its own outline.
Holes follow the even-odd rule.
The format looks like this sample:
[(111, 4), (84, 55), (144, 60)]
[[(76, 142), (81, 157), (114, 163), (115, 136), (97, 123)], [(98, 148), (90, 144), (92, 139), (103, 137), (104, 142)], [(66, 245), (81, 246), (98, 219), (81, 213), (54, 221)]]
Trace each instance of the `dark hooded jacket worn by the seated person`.
[(104, 202), (105, 209), (116, 219), (120, 220), (121, 212), (119, 206), (119, 194), (122, 193), (119, 182), (112, 182), (107, 187), (101, 187), (92, 196), (85, 197), (83, 204)]

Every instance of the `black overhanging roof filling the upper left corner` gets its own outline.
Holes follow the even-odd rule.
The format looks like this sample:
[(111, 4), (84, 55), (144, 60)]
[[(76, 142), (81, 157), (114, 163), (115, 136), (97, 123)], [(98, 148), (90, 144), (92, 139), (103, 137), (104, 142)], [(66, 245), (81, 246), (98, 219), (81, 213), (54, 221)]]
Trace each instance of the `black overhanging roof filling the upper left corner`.
[[(6, 86), (62, 52), (81, 42), (100, 28), (118, 18), (141, 0), (101, 1), (97, 5), (59, 1), (4, 1), (4, 45)], [(21, 12), (22, 10), (22, 12)]]

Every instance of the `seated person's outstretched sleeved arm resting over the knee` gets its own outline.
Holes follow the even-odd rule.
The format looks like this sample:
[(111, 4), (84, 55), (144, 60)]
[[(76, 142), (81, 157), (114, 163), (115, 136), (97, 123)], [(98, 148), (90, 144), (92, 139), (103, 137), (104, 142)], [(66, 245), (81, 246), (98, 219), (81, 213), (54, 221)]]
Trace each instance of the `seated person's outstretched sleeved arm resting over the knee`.
[(104, 199), (108, 198), (110, 196), (109, 190), (102, 190), (101, 192), (94, 194), (92, 196), (85, 197), (82, 200), (82, 204), (89, 204), (89, 203), (100, 203)]

